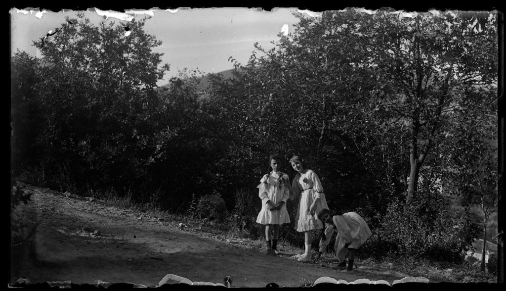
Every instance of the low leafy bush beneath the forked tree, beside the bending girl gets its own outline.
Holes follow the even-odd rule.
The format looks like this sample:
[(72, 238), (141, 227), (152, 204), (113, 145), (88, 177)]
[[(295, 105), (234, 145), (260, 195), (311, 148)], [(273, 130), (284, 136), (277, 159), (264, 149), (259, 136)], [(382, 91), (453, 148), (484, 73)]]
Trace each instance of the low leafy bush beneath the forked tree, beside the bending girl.
[(446, 209), (446, 199), (437, 191), (419, 191), (410, 205), (396, 199), (369, 244), (394, 256), (460, 263), (479, 226), (466, 213), (450, 217)]

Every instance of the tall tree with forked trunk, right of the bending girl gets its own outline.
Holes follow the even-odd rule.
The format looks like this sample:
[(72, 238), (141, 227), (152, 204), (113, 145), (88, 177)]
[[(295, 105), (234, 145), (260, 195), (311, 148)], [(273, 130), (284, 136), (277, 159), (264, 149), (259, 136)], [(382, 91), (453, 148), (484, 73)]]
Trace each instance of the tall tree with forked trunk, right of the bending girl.
[(402, 117), (406, 124), (400, 125), (409, 132), (408, 204), (416, 193), (421, 166), (435, 145), (444, 142), (445, 127), (455, 111), (465, 102), (493, 102), (497, 86), (495, 15), (433, 14), (376, 13), (364, 21), (373, 21), (372, 27), (364, 25), (371, 28), (363, 31), (363, 37), (371, 40), (367, 47), (371, 60), (364, 65), (381, 72), (380, 86), (395, 88), (373, 96), (372, 102)]

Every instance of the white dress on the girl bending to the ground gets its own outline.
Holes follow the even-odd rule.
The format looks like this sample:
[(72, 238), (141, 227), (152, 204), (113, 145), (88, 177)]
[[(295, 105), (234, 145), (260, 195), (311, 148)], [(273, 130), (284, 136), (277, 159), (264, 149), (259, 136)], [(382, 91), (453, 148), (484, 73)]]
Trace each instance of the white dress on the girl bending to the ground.
[[(335, 228), (326, 224), (324, 231), (326, 240), (323, 238), (320, 240), (320, 251), (325, 251), (332, 234), (337, 232), (338, 235), (335, 237), (334, 243), (335, 256), (339, 262), (344, 262), (348, 248), (359, 248), (371, 236), (371, 231), (364, 219), (356, 212), (334, 215), (332, 222)], [(345, 247), (347, 243), (350, 244)]]

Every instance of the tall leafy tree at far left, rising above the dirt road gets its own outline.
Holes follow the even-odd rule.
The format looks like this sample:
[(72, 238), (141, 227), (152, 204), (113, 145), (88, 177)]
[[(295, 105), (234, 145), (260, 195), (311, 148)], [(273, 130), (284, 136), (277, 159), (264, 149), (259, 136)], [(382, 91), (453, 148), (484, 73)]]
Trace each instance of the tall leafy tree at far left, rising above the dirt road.
[[(125, 34), (111, 22), (95, 26), (78, 13), (56, 34), (34, 42), (43, 56), (31, 102), (40, 122), (37, 161), (65, 187), (142, 185), (155, 141), (172, 135), (152, 121), (163, 113), (154, 90), (168, 65), (160, 66), (161, 44), (133, 20)], [(153, 110), (154, 109), (154, 110)], [(62, 183), (60, 183), (62, 184)], [(63, 187), (60, 185), (60, 187)]]

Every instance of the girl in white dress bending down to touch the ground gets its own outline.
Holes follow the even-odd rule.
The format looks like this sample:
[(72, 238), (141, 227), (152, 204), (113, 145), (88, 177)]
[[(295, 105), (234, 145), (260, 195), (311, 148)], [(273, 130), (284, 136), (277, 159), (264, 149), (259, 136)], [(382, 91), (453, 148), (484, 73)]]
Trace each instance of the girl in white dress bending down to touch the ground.
[[(335, 256), (339, 264), (333, 269), (343, 271), (353, 271), (353, 261), (355, 260), (356, 250), (371, 236), (371, 231), (362, 216), (356, 212), (338, 212), (330, 214), (330, 210), (323, 209), (318, 217), (325, 222), (325, 231), (320, 239), (320, 251), (314, 262), (320, 258), (323, 251), (330, 242), (334, 232), (338, 233), (335, 237), (334, 249)], [(346, 267), (345, 256), (348, 253), (348, 267)]]

